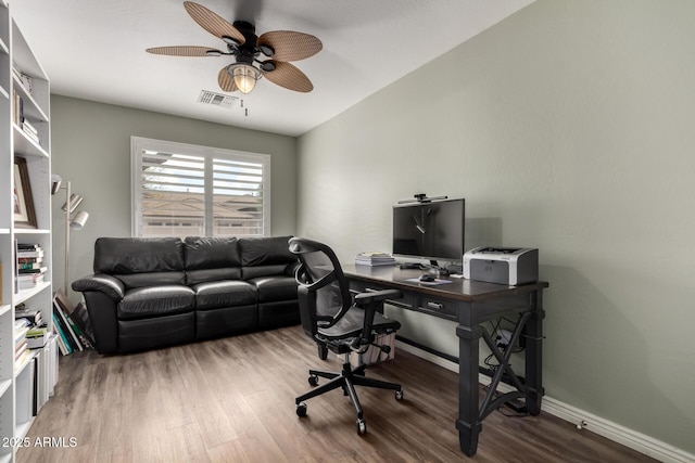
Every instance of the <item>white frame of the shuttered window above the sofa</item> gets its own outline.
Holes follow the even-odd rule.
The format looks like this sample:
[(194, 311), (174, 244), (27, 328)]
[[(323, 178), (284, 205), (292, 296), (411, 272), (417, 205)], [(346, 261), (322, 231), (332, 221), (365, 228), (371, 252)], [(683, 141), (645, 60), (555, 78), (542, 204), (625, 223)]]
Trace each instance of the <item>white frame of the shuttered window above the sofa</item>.
[[(220, 147), (201, 146), (187, 143), (177, 143), (165, 140), (130, 137), (130, 198), (131, 198), (131, 236), (142, 236), (142, 156), (144, 150), (156, 152), (179, 153), (205, 158), (205, 178), (212, 179), (207, 170), (213, 158), (229, 160), (253, 162), (263, 165), (263, 235), (270, 235), (270, 155), (249, 153)], [(205, 235), (212, 236), (212, 217), (207, 213), (212, 210), (213, 195), (206, 195), (205, 200)]]

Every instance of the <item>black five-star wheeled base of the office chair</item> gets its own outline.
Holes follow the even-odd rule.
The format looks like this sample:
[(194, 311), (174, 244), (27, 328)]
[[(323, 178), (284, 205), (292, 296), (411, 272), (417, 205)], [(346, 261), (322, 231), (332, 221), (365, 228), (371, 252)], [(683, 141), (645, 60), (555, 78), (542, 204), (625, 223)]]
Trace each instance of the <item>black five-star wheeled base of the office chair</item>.
[(304, 416), (306, 414), (306, 404), (303, 403), (304, 400), (320, 396), (321, 394), (326, 394), (330, 390), (341, 387), (343, 389), (343, 395), (350, 397), (350, 401), (352, 402), (353, 407), (355, 408), (355, 412), (357, 413), (357, 434), (365, 434), (367, 432), (367, 428), (364, 422), (363, 410), (362, 406), (359, 404), (359, 399), (357, 398), (355, 386), (395, 390), (396, 400), (403, 399), (403, 388), (400, 384), (366, 377), (366, 368), (367, 365), (363, 364), (357, 366), (356, 369), (353, 369), (349, 359), (345, 359), (343, 369), (340, 373), (309, 370), (308, 383), (312, 386), (318, 385), (319, 376), (330, 381), (294, 399), (294, 402), (296, 403), (296, 414), (300, 416)]

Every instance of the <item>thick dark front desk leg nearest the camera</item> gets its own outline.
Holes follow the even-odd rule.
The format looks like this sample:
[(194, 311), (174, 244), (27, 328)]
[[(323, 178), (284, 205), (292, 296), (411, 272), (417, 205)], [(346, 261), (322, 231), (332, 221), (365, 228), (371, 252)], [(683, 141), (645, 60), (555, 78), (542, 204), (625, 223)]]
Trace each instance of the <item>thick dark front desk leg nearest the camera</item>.
[(478, 410), (478, 350), (482, 329), (458, 325), (458, 441), (460, 450), (471, 456), (478, 450), (478, 435), (482, 430)]

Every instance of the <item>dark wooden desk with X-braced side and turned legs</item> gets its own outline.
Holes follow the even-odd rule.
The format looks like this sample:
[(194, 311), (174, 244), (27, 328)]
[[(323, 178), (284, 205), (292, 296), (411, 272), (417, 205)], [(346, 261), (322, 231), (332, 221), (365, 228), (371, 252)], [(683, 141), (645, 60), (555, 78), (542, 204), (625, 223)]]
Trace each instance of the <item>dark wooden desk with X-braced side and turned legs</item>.
[[(433, 317), (458, 322), (458, 420), (456, 428), (460, 449), (467, 455), (476, 453), (478, 435), (482, 421), (493, 410), (507, 400), (522, 398), (532, 415), (541, 412), (542, 384), (542, 340), (543, 340), (543, 290), (546, 282), (522, 286), (506, 286), (465, 279), (447, 279), (451, 283), (431, 285), (412, 282), (422, 273), (420, 270), (401, 270), (397, 267), (344, 266), (343, 272), (350, 280), (352, 290), (378, 291), (401, 290), (403, 299), (389, 301), (396, 307), (417, 310)], [(526, 340), (526, 381), (521, 382), (509, 366), (511, 349), (502, 352), (494, 347), (483, 322), (502, 316), (518, 314), (519, 323), (513, 333), (518, 339), (523, 331)], [(482, 402), (478, 394), (480, 338), (493, 350), (501, 366), (492, 378), (491, 387)], [(496, 351), (496, 352), (495, 352)], [(506, 373), (517, 390), (494, 397), (495, 389)]]

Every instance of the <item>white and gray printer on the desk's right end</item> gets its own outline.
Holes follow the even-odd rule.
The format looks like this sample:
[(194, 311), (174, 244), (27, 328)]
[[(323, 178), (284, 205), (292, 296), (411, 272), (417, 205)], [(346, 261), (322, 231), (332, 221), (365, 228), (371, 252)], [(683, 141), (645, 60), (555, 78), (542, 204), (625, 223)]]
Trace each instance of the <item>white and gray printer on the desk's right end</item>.
[(539, 249), (476, 247), (464, 254), (464, 278), (516, 286), (539, 280)]

